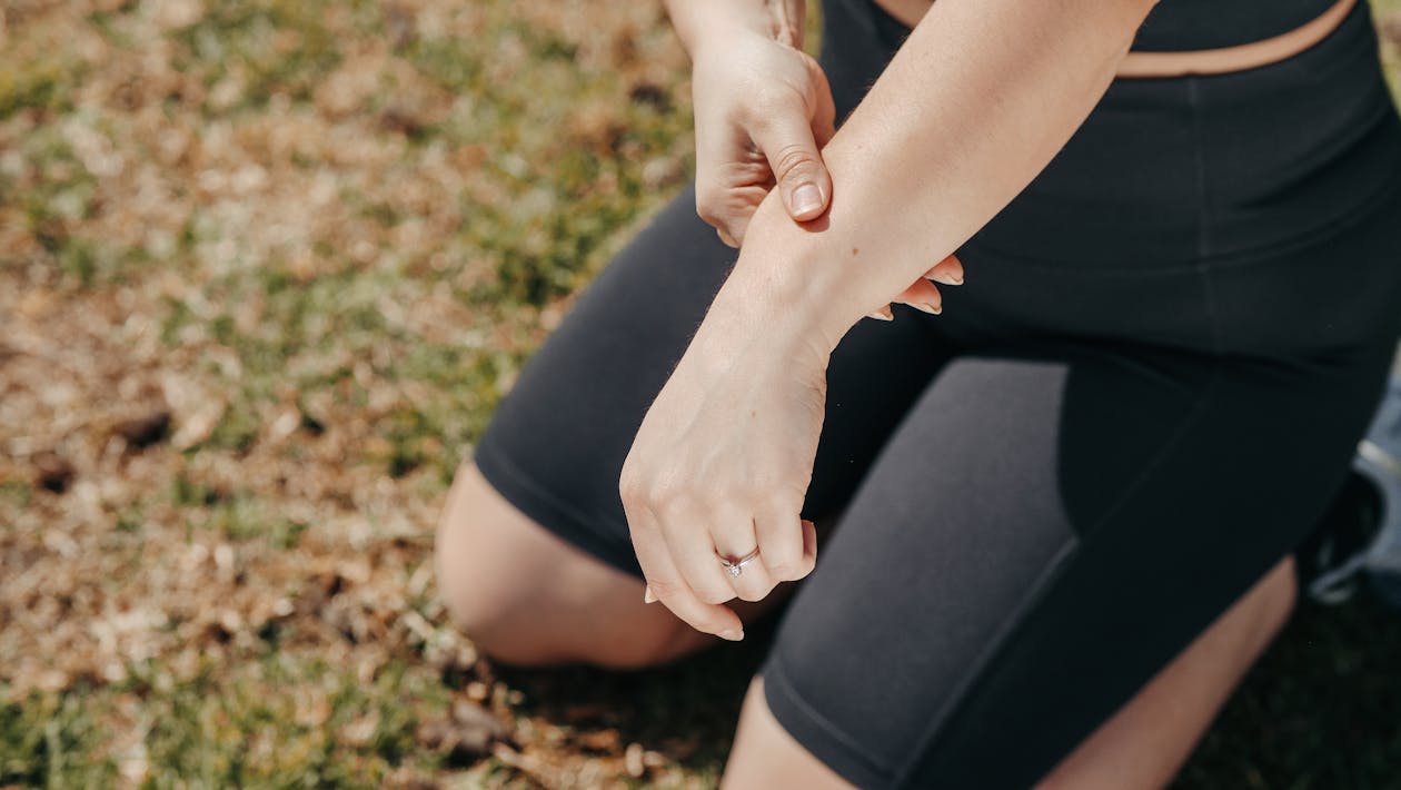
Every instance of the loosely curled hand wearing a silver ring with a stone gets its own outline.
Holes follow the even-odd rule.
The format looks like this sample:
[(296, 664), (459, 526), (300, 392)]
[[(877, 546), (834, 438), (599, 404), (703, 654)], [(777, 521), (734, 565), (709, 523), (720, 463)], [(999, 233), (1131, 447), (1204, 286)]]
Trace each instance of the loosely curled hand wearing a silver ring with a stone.
[[(702, 324), (642, 421), (619, 494), (650, 595), (696, 630), (737, 640), (743, 623), (724, 602), (759, 601), (817, 561), (800, 511), (831, 349), (800, 334), (736, 340), (757, 335), (734, 327)], [(755, 547), (737, 577), (720, 564)]]

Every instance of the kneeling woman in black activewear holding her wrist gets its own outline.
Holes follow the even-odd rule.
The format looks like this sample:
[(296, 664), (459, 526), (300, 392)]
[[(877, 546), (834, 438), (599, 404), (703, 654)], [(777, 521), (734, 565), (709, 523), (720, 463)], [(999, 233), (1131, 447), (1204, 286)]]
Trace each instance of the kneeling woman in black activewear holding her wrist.
[(726, 787), (1163, 786), (1391, 361), (1366, 3), (827, 0), (817, 63), (796, 0), (670, 11), (695, 191), (460, 473), (454, 616), (640, 667), (786, 602)]

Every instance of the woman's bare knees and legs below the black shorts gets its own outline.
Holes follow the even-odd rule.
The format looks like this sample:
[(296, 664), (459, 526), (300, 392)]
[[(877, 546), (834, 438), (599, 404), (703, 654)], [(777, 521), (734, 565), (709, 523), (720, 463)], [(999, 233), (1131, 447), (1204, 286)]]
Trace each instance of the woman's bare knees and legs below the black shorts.
[[(722, 641), (667, 609), (643, 603), (640, 580), (546, 532), (502, 498), (472, 464), (462, 466), (448, 494), (439, 525), (437, 567), (440, 594), (455, 622), (481, 650), (506, 664), (635, 669)], [(736, 603), (738, 616), (754, 622), (785, 601), (794, 584), (801, 582), (779, 585), (759, 602)], [(1295, 598), (1292, 558), (1285, 558), (1040, 787), (1166, 786), (1288, 620)], [(835, 790), (850, 784), (778, 724), (757, 678), (744, 700), (722, 787)]]

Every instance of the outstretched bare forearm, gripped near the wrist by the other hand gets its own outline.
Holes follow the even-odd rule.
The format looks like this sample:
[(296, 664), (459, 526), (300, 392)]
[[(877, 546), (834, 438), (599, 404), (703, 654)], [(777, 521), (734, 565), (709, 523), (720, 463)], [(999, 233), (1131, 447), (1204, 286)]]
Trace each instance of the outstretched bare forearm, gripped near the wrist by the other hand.
[(773, 199), (761, 203), (712, 309), (726, 334), (772, 335), (783, 321), (794, 326), (779, 334), (835, 347), (1051, 161), (1104, 94), (1152, 3), (934, 3), (822, 150), (828, 213), (800, 226)]

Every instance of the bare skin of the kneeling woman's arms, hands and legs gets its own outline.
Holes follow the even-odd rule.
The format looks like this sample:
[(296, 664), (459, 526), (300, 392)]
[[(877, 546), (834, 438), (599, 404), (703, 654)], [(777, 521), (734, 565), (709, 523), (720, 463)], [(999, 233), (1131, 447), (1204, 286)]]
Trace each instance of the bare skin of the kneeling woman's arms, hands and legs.
[[(891, 300), (936, 312), (933, 282), (962, 279), (951, 253), (1084, 121), (1154, 0), (936, 3), (835, 133), (810, 65), (764, 39), (800, 27), (794, 3), (667, 3), (695, 62), (698, 212), (743, 247), (619, 480), (646, 599), (660, 606), (644, 603), (642, 581), (553, 537), (464, 467), (440, 526), (440, 587), (457, 622), (500, 661), (670, 661), (743, 638), (745, 622), (800, 584), (814, 563), (815, 530), (799, 508), (828, 355)], [(782, 14), (768, 15), (775, 8)], [(726, 59), (750, 66), (736, 72)], [(783, 74), (782, 90), (764, 80), (738, 90), (759, 67)], [(768, 104), (726, 104), (734, 95)], [(818, 188), (820, 212), (800, 199), (807, 185)], [(757, 544), (762, 563), (740, 582), (715, 561)], [(1293, 599), (1286, 560), (1044, 784), (1166, 784)], [(843, 787), (778, 727), (759, 688), (726, 787)]]

